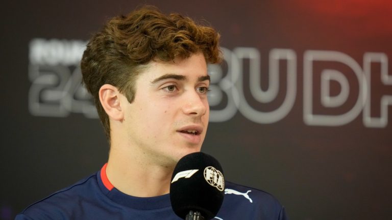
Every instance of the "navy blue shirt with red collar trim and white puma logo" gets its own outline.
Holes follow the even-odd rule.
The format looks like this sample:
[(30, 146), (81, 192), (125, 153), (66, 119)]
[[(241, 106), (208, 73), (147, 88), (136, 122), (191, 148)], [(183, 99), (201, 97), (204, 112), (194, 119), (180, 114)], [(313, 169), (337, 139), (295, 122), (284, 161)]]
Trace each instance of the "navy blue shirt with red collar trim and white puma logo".
[[(225, 199), (215, 219), (288, 219), (284, 207), (264, 191), (225, 183)], [(40, 200), (15, 218), (21, 219), (161, 219), (181, 220), (169, 195), (140, 198), (121, 193), (107, 179), (106, 164), (86, 179)]]

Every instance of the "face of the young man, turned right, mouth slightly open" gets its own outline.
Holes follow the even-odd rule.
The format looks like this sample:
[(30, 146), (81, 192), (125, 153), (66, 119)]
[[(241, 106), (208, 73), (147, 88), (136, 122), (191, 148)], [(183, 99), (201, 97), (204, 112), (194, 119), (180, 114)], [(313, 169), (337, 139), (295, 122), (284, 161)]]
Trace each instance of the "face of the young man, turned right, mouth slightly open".
[(128, 146), (145, 161), (173, 166), (203, 144), (210, 84), (202, 53), (175, 62), (151, 62), (136, 79), (126, 105)]

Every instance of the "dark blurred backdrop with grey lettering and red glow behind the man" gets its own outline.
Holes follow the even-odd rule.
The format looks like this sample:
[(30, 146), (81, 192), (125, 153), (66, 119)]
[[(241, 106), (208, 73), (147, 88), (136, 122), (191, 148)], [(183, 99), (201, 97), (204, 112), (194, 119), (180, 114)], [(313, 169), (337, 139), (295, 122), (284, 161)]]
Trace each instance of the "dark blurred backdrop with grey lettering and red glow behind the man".
[(203, 151), (226, 179), (291, 219), (389, 218), (392, 3), (146, 0), (2, 3), (0, 219), (106, 162), (78, 59), (108, 18), (143, 4), (222, 35)]

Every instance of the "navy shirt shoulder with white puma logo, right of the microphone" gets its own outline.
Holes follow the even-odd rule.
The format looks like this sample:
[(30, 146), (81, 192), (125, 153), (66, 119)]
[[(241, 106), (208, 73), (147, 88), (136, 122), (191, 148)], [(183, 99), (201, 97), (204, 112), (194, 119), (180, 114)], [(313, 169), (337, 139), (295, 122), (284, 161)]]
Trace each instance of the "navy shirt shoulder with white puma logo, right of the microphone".
[(247, 216), (247, 219), (287, 219), (284, 206), (266, 191), (228, 181), (225, 184), (221, 214), (228, 212), (231, 216)]

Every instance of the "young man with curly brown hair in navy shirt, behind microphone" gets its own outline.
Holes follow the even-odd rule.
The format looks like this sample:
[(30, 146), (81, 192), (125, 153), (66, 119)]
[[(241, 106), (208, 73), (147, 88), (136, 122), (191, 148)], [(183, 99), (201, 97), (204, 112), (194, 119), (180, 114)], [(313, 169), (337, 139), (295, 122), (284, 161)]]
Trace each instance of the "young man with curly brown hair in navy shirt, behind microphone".
[[(110, 143), (101, 171), (29, 206), (16, 219), (179, 219), (169, 200), (178, 160), (201, 150), (209, 117), (207, 63), (219, 35), (144, 7), (112, 18), (81, 63)], [(286, 219), (257, 189), (226, 184), (216, 219)]]

